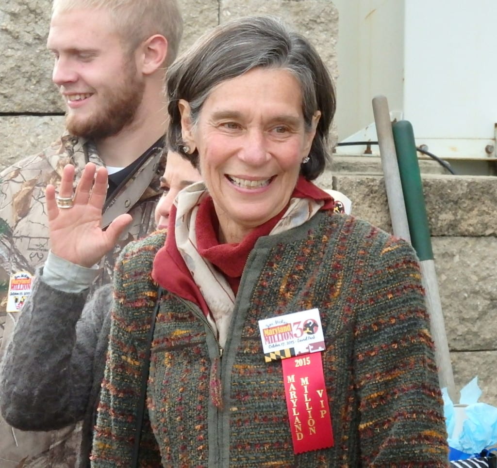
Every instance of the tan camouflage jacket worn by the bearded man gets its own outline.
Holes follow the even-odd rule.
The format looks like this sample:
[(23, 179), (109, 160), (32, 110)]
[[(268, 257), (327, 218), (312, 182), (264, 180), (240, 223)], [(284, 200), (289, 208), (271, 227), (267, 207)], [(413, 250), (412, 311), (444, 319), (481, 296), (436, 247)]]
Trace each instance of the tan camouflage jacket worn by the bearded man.
[[(154, 209), (165, 165), (162, 150), (162, 145), (152, 146), (148, 150), (150, 157), (105, 203), (104, 225), (125, 212), (133, 216), (133, 222), (115, 250), (102, 260), (94, 287), (110, 281), (114, 261), (128, 242), (144, 237), (155, 227)], [(76, 166), (76, 184), (89, 161), (97, 166), (104, 165), (90, 141), (64, 135), (41, 154), (26, 157), (0, 173), (0, 358), (19, 315), (19, 312), (10, 311), (22, 305), (30, 292), (29, 284), (24, 286), (29, 283), (26, 278), (34, 274), (48, 254), (45, 187), (47, 184), (59, 185), (62, 169), (68, 163)], [(14, 291), (16, 288), (20, 292)], [(0, 418), (0, 468), (72, 468), (79, 450), (80, 429), (67, 427), (53, 432), (23, 432)]]

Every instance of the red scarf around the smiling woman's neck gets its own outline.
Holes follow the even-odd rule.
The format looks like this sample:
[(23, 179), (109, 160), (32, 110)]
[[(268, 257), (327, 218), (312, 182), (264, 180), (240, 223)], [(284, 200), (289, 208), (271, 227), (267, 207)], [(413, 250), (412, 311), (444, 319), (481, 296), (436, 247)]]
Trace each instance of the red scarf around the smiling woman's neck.
[[(291, 198), (308, 198), (315, 201), (324, 201), (321, 207), (333, 209), (334, 200), (325, 191), (315, 186), (312, 182), (300, 176), (293, 190)], [(240, 285), (245, 263), (259, 237), (267, 236), (277, 222), (282, 218), (286, 207), (276, 216), (251, 231), (242, 242), (234, 244), (220, 244), (217, 239), (219, 221), (211, 197), (206, 197), (200, 202), (196, 217), (197, 248), (205, 259), (215, 265), (226, 277), (235, 295)], [(206, 316), (209, 308), (200, 293), (198, 286), (193, 281), (190, 271), (186, 267), (181, 254), (176, 248), (174, 224), (176, 207), (171, 207), (169, 225), (167, 228), (166, 245), (157, 252), (152, 269), (152, 277), (157, 283), (171, 293), (197, 304)]]

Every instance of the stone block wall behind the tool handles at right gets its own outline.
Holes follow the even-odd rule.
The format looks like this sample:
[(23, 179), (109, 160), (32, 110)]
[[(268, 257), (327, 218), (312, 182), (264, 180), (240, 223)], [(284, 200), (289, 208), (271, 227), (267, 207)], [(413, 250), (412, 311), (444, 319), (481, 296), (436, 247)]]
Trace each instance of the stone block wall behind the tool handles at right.
[[(423, 193), (456, 390), (478, 376), (481, 401), (497, 405), (497, 178), (423, 174)], [(392, 232), (385, 181), (326, 174), (352, 214)]]

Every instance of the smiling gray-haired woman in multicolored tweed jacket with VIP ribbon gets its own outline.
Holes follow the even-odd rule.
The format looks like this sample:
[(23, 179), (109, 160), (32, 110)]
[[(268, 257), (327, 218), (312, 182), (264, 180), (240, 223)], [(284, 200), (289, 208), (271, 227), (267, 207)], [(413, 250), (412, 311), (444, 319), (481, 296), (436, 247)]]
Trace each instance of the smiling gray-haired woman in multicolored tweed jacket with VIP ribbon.
[(335, 110), (315, 49), (242, 18), (167, 76), (169, 144), (205, 184), (115, 271), (93, 465), (445, 467), (414, 252), (311, 182)]

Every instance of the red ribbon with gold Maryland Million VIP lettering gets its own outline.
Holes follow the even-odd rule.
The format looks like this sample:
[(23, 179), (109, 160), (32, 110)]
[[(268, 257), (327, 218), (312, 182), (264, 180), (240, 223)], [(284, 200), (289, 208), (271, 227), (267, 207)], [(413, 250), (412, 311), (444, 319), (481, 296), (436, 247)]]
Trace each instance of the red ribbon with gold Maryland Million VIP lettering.
[(286, 407), (295, 454), (333, 446), (321, 353), (283, 359)]

